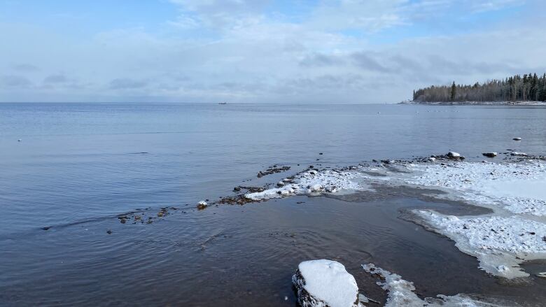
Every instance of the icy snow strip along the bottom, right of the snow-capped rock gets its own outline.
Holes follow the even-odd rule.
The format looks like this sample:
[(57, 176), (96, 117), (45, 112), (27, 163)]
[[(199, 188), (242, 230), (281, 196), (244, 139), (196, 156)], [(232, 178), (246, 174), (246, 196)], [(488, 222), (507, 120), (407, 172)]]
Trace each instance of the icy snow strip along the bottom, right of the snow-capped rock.
[(400, 275), (381, 269), (374, 264), (363, 264), (362, 267), (368, 273), (380, 276), (381, 281), (377, 282), (377, 285), (388, 294), (385, 307), (500, 307), (489, 301), (477, 301), (465, 294), (449, 297), (440, 294), (437, 298), (421, 299), (415, 294), (413, 283), (403, 280)]

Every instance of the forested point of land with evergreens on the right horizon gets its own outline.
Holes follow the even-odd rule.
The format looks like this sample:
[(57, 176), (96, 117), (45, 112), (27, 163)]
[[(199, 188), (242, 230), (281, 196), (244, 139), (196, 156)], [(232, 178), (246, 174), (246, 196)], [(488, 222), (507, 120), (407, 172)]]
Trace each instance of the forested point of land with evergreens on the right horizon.
[(515, 75), (474, 85), (430, 86), (413, 91), (414, 102), (546, 101), (546, 73)]

